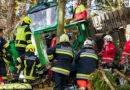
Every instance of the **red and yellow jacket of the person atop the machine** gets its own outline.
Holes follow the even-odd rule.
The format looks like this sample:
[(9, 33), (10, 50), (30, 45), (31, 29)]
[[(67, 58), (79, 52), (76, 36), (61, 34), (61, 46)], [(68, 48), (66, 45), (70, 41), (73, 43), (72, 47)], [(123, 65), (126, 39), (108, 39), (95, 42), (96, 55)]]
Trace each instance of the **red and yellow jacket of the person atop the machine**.
[(87, 12), (84, 5), (80, 5), (76, 8), (76, 20), (87, 19)]

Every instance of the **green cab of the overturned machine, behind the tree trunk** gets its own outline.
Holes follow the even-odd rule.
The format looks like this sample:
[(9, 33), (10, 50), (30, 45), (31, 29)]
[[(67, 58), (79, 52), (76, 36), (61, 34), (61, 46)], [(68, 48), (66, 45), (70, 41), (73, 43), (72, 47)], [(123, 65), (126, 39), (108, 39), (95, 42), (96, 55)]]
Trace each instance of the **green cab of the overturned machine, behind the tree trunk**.
[[(32, 20), (30, 25), (33, 32), (34, 44), (36, 46), (37, 55), (42, 65), (47, 64), (47, 43), (46, 37), (56, 34), (58, 21), (58, 3), (46, 2), (39, 4), (27, 11), (28, 16)], [(86, 37), (89, 37), (87, 30), (87, 20), (80, 20), (75, 23), (64, 26), (69, 30), (71, 36), (70, 43), (73, 49), (79, 50), (83, 46)]]

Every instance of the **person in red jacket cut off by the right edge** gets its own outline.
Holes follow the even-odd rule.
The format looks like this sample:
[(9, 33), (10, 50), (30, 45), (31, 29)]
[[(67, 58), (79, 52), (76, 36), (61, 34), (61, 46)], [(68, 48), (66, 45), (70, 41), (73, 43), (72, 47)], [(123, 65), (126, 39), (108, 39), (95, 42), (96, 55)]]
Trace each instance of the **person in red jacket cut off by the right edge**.
[(120, 63), (126, 68), (126, 75), (130, 78), (130, 40), (124, 45), (122, 60)]

